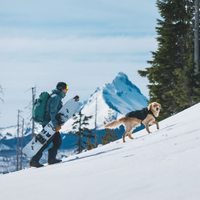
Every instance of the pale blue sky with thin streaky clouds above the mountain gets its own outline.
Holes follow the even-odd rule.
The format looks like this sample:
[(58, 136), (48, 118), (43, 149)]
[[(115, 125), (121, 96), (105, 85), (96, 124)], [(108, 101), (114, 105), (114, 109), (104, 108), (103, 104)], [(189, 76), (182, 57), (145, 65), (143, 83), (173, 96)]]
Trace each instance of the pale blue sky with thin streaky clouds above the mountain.
[(97, 87), (124, 72), (148, 98), (156, 51), (156, 1), (0, 0), (0, 127), (17, 124), (18, 110), (30, 120), (31, 88), (37, 97), (60, 81), (64, 100), (87, 100)]

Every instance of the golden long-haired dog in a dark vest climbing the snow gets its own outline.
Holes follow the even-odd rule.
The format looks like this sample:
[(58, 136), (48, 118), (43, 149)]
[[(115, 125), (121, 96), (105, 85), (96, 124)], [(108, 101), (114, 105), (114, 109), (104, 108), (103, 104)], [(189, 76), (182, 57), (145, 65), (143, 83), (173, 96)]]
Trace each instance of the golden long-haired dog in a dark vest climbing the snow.
[(142, 110), (132, 111), (127, 113), (124, 117), (114, 120), (110, 123), (104, 125), (104, 128), (115, 129), (119, 128), (121, 124), (124, 125), (125, 132), (122, 136), (123, 142), (125, 142), (125, 137), (128, 134), (130, 139), (134, 139), (131, 134), (133, 130), (140, 126), (141, 124), (145, 125), (146, 131), (149, 131), (149, 125), (156, 124), (157, 129), (159, 129), (159, 124), (156, 122), (156, 117), (159, 116), (161, 110), (161, 105), (157, 102), (150, 103), (148, 107), (143, 108)]

